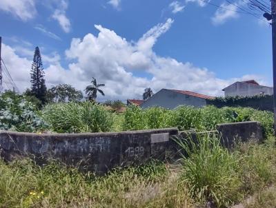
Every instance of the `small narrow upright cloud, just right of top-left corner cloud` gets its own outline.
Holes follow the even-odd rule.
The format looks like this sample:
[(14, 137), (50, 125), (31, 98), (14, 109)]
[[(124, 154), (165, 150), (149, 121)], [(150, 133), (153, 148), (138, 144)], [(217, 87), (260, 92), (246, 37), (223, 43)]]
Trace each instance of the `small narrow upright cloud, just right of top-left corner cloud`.
[(61, 0), (59, 4), (59, 8), (57, 8), (54, 14), (52, 14), (52, 19), (57, 20), (62, 30), (68, 33), (71, 30), (71, 23), (68, 17), (66, 17), (67, 8), (68, 8), (68, 2), (65, 0)]

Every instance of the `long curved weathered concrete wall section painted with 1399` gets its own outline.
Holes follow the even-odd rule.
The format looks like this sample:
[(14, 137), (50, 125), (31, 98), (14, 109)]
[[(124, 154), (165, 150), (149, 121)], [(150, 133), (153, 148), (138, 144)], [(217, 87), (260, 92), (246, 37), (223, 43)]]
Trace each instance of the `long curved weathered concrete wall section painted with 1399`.
[[(164, 134), (165, 133), (165, 134)], [(91, 134), (0, 132), (0, 156), (6, 160), (31, 156), (38, 163), (55, 158), (97, 174), (117, 166), (164, 159), (169, 136), (177, 128)]]

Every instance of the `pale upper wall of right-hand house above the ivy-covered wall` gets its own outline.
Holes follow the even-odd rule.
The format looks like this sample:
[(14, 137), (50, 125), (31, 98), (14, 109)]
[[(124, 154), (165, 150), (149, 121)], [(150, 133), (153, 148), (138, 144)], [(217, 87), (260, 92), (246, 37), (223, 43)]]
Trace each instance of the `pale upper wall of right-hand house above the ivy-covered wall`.
[(225, 96), (254, 96), (258, 94), (273, 94), (273, 87), (237, 82), (224, 89)]

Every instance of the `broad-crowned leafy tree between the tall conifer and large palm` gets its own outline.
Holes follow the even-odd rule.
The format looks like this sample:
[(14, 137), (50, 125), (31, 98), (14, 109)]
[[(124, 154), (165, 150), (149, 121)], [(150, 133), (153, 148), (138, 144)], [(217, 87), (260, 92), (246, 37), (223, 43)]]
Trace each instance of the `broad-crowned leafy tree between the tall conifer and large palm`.
[(47, 98), (48, 102), (65, 103), (67, 101), (81, 101), (83, 94), (72, 85), (59, 84), (47, 90)]

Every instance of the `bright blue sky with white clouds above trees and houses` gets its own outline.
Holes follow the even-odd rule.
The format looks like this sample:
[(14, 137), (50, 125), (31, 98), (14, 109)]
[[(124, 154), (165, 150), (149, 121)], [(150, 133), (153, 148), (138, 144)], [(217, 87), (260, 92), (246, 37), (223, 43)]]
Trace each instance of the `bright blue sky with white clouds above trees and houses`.
[(49, 87), (83, 90), (95, 76), (105, 99), (140, 98), (146, 87), (221, 95), (238, 80), (271, 85), (268, 23), (211, 2), (226, 9), (201, 0), (0, 0), (3, 60), (25, 89), (38, 45)]

